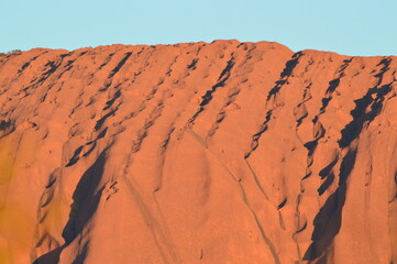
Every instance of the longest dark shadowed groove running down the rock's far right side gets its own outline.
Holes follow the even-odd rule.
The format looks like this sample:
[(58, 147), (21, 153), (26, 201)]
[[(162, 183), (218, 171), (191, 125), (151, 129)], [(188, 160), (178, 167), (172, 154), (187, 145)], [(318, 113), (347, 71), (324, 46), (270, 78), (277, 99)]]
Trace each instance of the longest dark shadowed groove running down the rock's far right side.
[[(341, 131), (339, 145), (341, 148), (348, 148), (343, 156), (337, 190), (329, 196), (324, 206), (315, 218), (315, 230), (312, 233), (312, 243), (306, 251), (304, 260), (313, 261), (319, 257), (327, 257), (326, 250), (331, 245), (334, 237), (339, 233), (342, 221), (342, 210), (346, 198), (346, 180), (352, 173), (357, 154), (357, 138), (366, 124), (368, 125), (381, 112), (385, 96), (390, 91), (390, 85), (381, 86), (384, 74), (389, 69), (390, 59), (384, 58), (378, 66), (383, 66), (378, 74), (378, 82), (374, 88), (370, 88), (364, 97), (355, 100), (355, 108), (351, 111), (353, 120)], [(374, 98), (375, 97), (375, 98)], [(366, 112), (366, 110), (368, 110)]]

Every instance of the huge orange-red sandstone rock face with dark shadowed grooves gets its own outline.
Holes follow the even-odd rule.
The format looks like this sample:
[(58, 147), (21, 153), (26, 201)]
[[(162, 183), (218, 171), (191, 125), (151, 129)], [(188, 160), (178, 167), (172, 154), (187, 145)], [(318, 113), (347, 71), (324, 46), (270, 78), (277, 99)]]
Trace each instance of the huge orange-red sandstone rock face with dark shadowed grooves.
[(0, 57), (0, 263), (397, 263), (397, 58)]

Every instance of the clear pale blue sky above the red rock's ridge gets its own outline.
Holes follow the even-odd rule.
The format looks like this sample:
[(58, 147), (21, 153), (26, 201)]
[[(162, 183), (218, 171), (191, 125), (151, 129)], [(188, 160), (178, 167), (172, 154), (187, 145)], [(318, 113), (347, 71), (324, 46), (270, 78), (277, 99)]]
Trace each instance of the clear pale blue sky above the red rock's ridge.
[(0, 52), (236, 38), (397, 55), (397, 0), (0, 0)]

